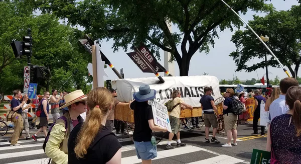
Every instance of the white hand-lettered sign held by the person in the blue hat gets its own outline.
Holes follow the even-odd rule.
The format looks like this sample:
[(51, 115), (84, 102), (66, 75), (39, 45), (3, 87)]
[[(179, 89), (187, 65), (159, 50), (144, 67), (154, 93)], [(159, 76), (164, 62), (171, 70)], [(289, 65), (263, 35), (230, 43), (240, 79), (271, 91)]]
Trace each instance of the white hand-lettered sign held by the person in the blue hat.
[(172, 132), (171, 123), (168, 116), (168, 111), (165, 105), (159, 103), (157, 100), (151, 100), (154, 124), (163, 128), (167, 128), (169, 132)]

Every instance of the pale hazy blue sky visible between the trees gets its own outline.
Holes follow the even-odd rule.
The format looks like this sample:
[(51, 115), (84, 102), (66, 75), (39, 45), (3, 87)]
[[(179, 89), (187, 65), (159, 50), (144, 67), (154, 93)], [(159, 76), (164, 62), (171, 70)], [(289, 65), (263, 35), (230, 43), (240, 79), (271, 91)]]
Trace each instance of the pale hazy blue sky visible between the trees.
[[(271, 2), (276, 10), (289, 10), (292, 5), (298, 5), (296, 0), (274, 0)], [(249, 20), (253, 20), (253, 15), (265, 16), (265, 13), (255, 13), (253, 11), (248, 11), (246, 15), (240, 15), (246, 22)], [(241, 27), (243, 30), (245, 25)], [(79, 29), (82, 29), (79, 27)], [(219, 39), (215, 38), (214, 48), (210, 47), (210, 52), (205, 54), (204, 52), (200, 53), (197, 51), (190, 62), (190, 70), (189, 75), (202, 75), (204, 72), (208, 73), (208, 75), (216, 76), (219, 80), (222, 79), (232, 79), (237, 76), (241, 80), (251, 79), (251, 78), (261, 78), (265, 73), (265, 69), (260, 68), (257, 71), (245, 72), (239, 71), (235, 72), (236, 65), (233, 61), (233, 58), (229, 56), (232, 51), (236, 50), (235, 44), (231, 42), (231, 37), (234, 34), (230, 31), (230, 29), (226, 29), (224, 32), (219, 32)], [(172, 31), (177, 32), (177, 27), (172, 26)], [(260, 35), (260, 34), (258, 34)], [(268, 35), (268, 34), (266, 34)], [(93, 36), (90, 36), (93, 38)], [(112, 50), (113, 41), (102, 40), (101, 41), (101, 51), (105, 54), (105, 56), (110, 60), (110, 62), (115, 66), (115, 68), (120, 71), (123, 68), (124, 78), (138, 78), (138, 77), (156, 77), (154, 73), (143, 73), (135, 63), (126, 55), (127, 52), (131, 52), (128, 48), (127, 52), (124, 52), (123, 49), (119, 49), (113, 53)], [(131, 46), (131, 45), (130, 45)], [(181, 52), (180, 48), (178, 50)], [(271, 54), (268, 54), (268, 58), (271, 57)], [(204, 61), (210, 62), (204, 62)], [(260, 62), (262, 59), (254, 59), (254, 61), (250, 61), (247, 64), (253, 65), (254, 63)], [(164, 52), (161, 51), (161, 61), (158, 60), (162, 65), (164, 65)], [(92, 61), (91, 61), (92, 63)], [(179, 67), (176, 61), (175, 64), (175, 74), (174, 76), (179, 76)], [(286, 67), (285, 67), (286, 68)], [(287, 68), (286, 68), (287, 69)], [(288, 69), (287, 69), (288, 70)], [(112, 71), (111, 68), (107, 67), (105, 69), (106, 73), (109, 77), (104, 77), (106, 79), (118, 79), (116, 74)], [(268, 67), (269, 79), (274, 79), (276, 75), (281, 78), (287, 77), (284, 71), (281, 68), (273, 68)], [(88, 73), (88, 70), (87, 70)], [(290, 73), (290, 72), (289, 72)], [(164, 76), (164, 72), (160, 73)], [(258, 76), (257, 76), (258, 74)]]

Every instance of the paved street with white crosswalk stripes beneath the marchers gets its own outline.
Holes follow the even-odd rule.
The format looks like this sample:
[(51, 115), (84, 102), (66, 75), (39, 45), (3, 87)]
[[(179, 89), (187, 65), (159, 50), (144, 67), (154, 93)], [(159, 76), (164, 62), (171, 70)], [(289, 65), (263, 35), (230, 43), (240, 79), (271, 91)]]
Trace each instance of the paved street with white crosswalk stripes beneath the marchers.
[[(30, 131), (32, 134), (36, 132), (36, 130)], [(221, 147), (226, 141), (226, 137), (222, 134), (217, 136), (221, 144), (205, 143), (205, 126), (200, 130), (183, 130), (181, 141), (187, 143), (187, 145), (183, 147), (175, 146), (172, 150), (166, 150), (165, 148), (166, 137), (168, 136), (166, 134), (158, 145), (158, 157), (153, 160), (153, 163), (250, 163), (252, 149), (265, 149), (266, 142), (266, 137), (251, 136), (251, 133), (252, 124), (239, 125), (238, 146), (225, 148)], [(20, 138), (18, 143), (21, 146), (13, 147), (7, 142), (10, 135), (0, 137), (0, 163), (48, 163), (49, 158), (42, 149), (44, 137), (39, 135), (38, 142)], [(162, 136), (162, 134), (158, 135)], [(121, 148), (122, 163), (140, 163), (141, 160), (136, 157), (133, 142), (127, 135), (123, 135), (123, 139), (121, 137), (122, 135), (117, 136), (119, 142), (123, 145)]]

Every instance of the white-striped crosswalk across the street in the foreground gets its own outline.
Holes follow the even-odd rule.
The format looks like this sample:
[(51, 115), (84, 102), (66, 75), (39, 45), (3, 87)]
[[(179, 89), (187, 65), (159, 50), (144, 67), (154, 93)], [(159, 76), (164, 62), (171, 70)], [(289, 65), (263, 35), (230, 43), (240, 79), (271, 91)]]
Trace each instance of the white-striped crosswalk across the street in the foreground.
[[(20, 140), (18, 143), (22, 143), (20, 146), (10, 146), (8, 142), (2, 140), (0, 141), (0, 163), (9, 163), (9, 164), (41, 164), (48, 163), (49, 158), (44, 153), (42, 149), (44, 139), (38, 139), (39, 141), (33, 140)], [(135, 154), (135, 147), (130, 141), (129, 138), (118, 139), (121, 144), (128, 144), (121, 147), (122, 152), (122, 163), (141, 163), (141, 159), (138, 159)], [(153, 159), (153, 163), (174, 163), (173, 161), (177, 161), (177, 163), (206, 163), (206, 164), (214, 164), (214, 163), (223, 163), (223, 164), (241, 164), (241, 163), (249, 163), (248, 161), (244, 161), (239, 158), (235, 158), (229, 155), (220, 154), (202, 147), (197, 147), (193, 145), (186, 145), (182, 147), (175, 147), (171, 150), (165, 149), (165, 144), (167, 140), (161, 141), (158, 146), (158, 155)], [(175, 141), (172, 144), (176, 144)], [(196, 159), (186, 158), (191, 153), (197, 153), (198, 157)], [(207, 153), (209, 155), (202, 155)], [(28, 159), (28, 160), (26, 160)]]

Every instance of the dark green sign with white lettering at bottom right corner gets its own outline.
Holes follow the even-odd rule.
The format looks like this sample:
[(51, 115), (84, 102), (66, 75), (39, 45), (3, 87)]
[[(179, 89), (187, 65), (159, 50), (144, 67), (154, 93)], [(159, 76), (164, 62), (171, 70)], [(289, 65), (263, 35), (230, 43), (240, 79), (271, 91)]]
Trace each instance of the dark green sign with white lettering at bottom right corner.
[(253, 149), (250, 164), (269, 164), (271, 163), (271, 152)]

